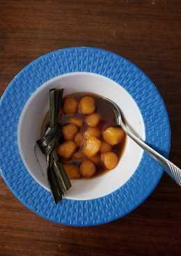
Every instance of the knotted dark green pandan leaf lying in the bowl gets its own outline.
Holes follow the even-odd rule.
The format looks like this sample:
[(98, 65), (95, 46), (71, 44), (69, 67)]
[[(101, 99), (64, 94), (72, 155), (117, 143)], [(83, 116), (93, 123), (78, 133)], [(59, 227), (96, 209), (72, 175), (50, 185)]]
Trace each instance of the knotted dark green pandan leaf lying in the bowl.
[(55, 149), (62, 136), (61, 127), (58, 125), (58, 113), (61, 108), (62, 98), (63, 89), (49, 90), (49, 127), (45, 131), (45, 135), (37, 141), (40, 150), (46, 157), (47, 178), (56, 204), (62, 200), (65, 192), (71, 187), (70, 180), (63, 164), (58, 159)]

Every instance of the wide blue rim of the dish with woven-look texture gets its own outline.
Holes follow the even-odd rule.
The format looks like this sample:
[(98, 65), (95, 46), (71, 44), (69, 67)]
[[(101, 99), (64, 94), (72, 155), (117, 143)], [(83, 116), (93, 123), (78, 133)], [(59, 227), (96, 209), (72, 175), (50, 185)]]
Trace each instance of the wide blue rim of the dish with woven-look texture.
[(111, 78), (132, 95), (145, 124), (145, 140), (168, 156), (171, 132), (162, 97), (143, 71), (127, 59), (98, 48), (56, 50), (31, 62), (8, 85), (0, 105), (1, 175), (15, 196), (34, 213), (54, 222), (91, 226), (123, 217), (143, 202), (162, 177), (163, 169), (145, 153), (127, 183), (105, 197), (57, 206), (26, 171), (17, 146), (17, 124), (31, 94), (63, 73), (86, 71)]

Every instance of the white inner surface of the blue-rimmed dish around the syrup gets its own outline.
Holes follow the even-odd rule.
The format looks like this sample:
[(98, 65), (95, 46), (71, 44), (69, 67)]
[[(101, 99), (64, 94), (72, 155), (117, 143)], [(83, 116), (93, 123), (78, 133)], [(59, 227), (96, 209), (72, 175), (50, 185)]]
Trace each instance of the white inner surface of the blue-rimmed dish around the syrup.
[[(130, 127), (145, 139), (145, 127), (141, 112), (130, 94), (113, 80), (95, 73), (76, 72), (57, 76), (34, 92), (26, 102), (18, 124), (18, 146), (24, 165), (30, 175), (45, 190), (49, 190), (45, 156), (35, 145), (40, 138), (40, 129), (48, 110), (49, 90), (63, 87), (64, 95), (74, 92), (93, 92), (113, 100), (123, 111)], [(143, 150), (127, 137), (125, 150), (115, 169), (91, 179), (71, 180), (72, 187), (66, 198), (85, 200), (96, 199), (109, 194), (123, 186), (136, 170)]]

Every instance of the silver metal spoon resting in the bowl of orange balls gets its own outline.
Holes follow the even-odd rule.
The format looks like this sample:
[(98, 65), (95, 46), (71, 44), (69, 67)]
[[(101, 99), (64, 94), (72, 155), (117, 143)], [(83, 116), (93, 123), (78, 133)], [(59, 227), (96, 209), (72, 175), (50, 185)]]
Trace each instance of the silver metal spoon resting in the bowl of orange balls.
[(133, 134), (132, 131), (130, 131), (130, 129), (124, 124), (120, 108), (113, 101), (111, 101), (111, 99), (104, 98), (104, 100), (107, 101), (107, 104), (109, 104), (109, 106), (111, 106), (112, 111), (115, 115), (116, 124), (122, 127), (123, 131), (125, 131), (125, 133), (130, 138), (132, 138), (141, 148), (143, 148), (143, 150), (148, 152), (148, 154), (153, 159), (155, 159), (155, 161), (162, 165), (168, 175), (171, 176), (171, 178), (173, 178), (173, 180), (175, 180), (175, 182), (181, 186), (181, 170), (178, 168), (178, 166), (175, 166), (175, 164), (168, 161), (168, 159), (160, 155), (157, 151), (155, 151), (144, 141), (142, 141), (138, 136)]

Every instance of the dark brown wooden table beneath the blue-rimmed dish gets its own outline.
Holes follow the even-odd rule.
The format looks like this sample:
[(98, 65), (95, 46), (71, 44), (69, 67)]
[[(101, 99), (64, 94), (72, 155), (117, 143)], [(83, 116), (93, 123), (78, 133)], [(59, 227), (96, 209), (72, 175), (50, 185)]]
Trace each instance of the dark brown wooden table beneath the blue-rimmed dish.
[[(76, 45), (138, 64), (171, 120), (170, 159), (181, 166), (181, 1), (0, 0), (0, 90), (40, 55)], [(181, 255), (181, 189), (165, 174), (155, 192), (107, 225), (56, 225), (28, 211), (0, 180), (0, 255)]]

